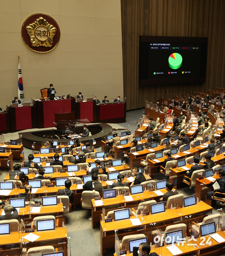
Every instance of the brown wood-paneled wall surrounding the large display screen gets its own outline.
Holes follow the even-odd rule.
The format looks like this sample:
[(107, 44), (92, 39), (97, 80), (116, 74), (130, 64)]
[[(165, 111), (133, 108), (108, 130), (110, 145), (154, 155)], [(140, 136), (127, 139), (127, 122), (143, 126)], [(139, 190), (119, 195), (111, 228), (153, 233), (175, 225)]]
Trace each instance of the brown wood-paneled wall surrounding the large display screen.
[[(225, 0), (121, 0), (121, 17), (127, 110), (144, 107), (145, 100), (224, 87)], [(206, 82), (139, 87), (139, 35), (208, 37)]]

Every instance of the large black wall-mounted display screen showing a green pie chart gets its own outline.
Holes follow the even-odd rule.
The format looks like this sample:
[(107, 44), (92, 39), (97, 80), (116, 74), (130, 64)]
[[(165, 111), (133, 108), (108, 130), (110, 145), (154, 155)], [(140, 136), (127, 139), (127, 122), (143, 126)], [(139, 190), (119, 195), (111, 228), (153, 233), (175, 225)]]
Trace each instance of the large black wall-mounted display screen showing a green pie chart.
[(184, 84), (206, 80), (206, 37), (140, 36), (139, 84)]

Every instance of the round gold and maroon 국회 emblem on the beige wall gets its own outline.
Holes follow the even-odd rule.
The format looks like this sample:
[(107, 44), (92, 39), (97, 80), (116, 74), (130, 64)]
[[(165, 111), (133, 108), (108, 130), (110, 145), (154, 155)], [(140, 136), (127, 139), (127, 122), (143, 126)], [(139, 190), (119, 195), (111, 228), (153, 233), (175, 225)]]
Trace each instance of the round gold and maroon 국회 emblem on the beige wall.
[(46, 14), (29, 16), (23, 23), (21, 34), (24, 44), (32, 51), (39, 53), (52, 51), (60, 38), (58, 24)]

